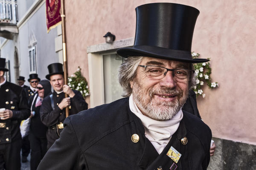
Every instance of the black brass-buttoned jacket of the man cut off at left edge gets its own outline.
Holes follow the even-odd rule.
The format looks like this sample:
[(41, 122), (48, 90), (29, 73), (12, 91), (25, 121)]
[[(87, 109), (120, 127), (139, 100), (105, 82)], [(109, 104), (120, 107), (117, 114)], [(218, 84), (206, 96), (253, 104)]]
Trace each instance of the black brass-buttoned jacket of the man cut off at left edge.
[(0, 108), (12, 110), (11, 119), (1, 120), (6, 127), (0, 128), (0, 144), (21, 139), (20, 122), (30, 116), (26, 93), (22, 87), (5, 82), (0, 87)]

